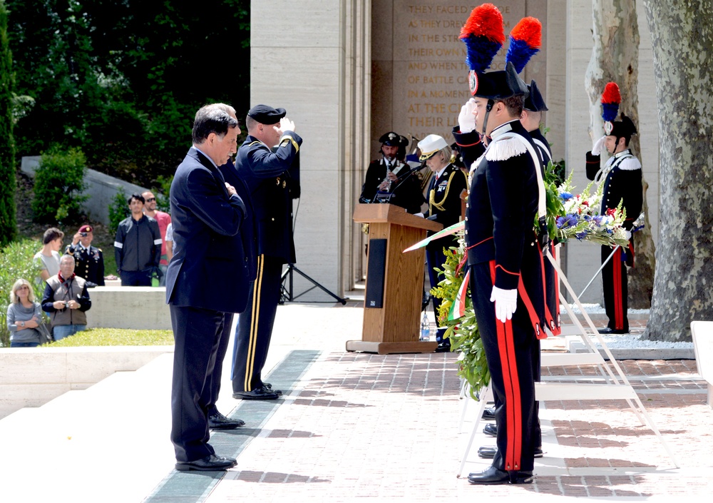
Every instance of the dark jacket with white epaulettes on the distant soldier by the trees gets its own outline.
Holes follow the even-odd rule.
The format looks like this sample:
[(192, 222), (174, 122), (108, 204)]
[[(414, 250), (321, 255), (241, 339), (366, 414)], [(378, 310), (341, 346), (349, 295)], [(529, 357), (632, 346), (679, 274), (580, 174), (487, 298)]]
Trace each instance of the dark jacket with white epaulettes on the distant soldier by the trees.
[[(594, 156), (588, 152), (587, 178), (595, 180), (599, 166), (600, 156)], [(631, 230), (634, 220), (641, 213), (644, 202), (641, 186), (641, 163), (627, 148), (610, 157), (601, 173), (602, 177), (605, 177), (602, 190), (602, 215), (607, 213), (607, 209), (617, 208), (623, 199), (622, 208), (626, 208), (624, 228)]]

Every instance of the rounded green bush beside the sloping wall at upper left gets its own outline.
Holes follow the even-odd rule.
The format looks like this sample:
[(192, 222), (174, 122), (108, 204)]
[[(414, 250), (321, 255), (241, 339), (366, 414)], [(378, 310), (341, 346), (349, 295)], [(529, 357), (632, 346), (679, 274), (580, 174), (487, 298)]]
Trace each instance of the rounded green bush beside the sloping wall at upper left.
[(81, 206), (88, 198), (81, 194), (86, 188), (85, 174), (86, 158), (81, 150), (62, 151), (53, 146), (43, 153), (35, 172), (35, 198), (32, 201), (35, 221), (81, 222)]

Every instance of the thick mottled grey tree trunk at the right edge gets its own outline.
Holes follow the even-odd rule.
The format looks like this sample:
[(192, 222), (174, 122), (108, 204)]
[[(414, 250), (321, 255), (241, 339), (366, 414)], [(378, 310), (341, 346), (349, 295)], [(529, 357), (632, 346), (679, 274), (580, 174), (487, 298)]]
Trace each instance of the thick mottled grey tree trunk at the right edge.
[(658, 105), (661, 206), (654, 295), (644, 337), (691, 340), (713, 320), (713, 2), (644, 1)]

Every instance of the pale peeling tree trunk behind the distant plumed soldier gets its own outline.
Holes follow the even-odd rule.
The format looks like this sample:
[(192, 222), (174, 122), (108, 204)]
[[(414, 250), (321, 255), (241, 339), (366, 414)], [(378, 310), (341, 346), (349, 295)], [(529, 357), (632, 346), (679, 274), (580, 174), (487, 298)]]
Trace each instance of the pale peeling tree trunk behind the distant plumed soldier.
[[(639, 25), (635, 0), (594, 0), (592, 58), (587, 67), (585, 88), (590, 100), (590, 136), (593, 140), (604, 134), (601, 98), (604, 86), (616, 82), (621, 89), (620, 112), (639, 124)], [(634, 155), (640, 151), (639, 136), (631, 138)], [(658, 168), (658, 167), (657, 167)], [(651, 305), (654, 283), (655, 245), (649, 225), (646, 203), (648, 183), (642, 178), (645, 226), (634, 235), (636, 267), (629, 272), (629, 306), (646, 309)], [(639, 215), (627, 215), (637, 218)]]

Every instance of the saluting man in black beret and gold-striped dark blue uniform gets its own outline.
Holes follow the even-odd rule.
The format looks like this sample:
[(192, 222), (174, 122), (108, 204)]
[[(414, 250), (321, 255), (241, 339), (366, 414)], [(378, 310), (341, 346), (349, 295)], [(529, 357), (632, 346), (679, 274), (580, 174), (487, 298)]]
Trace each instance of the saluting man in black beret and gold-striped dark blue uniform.
[(248, 313), (240, 316), (233, 348), (233, 397), (277, 400), (282, 394), (262, 381), (272, 337), (282, 265), (294, 263), (292, 199), (299, 197), (297, 153), (302, 138), (284, 108), (257, 105), (245, 119), (248, 136), (237, 151), (237, 175), (250, 189), (257, 218), (257, 279), (250, 289)]

